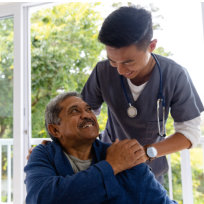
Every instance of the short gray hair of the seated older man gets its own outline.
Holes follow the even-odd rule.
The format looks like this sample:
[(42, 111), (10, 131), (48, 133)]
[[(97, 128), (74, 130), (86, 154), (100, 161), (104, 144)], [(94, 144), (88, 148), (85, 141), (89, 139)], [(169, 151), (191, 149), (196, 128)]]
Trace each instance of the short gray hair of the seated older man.
[(62, 103), (65, 99), (71, 97), (71, 96), (76, 96), (79, 98), (82, 98), (81, 95), (77, 92), (66, 92), (66, 93), (61, 93), (55, 98), (53, 98), (46, 106), (45, 110), (45, 128), (47, 130), (47, 133), (51, 137), (52, 140), (57, 141), (57, 138), (54, 137), (48, 130), (48, 125), (49, 124), (55, 124), (59, 125), (60, 124), (60, 118), (59, 114), (62, 110), (62, 107), (60, 107), (60, 103)]

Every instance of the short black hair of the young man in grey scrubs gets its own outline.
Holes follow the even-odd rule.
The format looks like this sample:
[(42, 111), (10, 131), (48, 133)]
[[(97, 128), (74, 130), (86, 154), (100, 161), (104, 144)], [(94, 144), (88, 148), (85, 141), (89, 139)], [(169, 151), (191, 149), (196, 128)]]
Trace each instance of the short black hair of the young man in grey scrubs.
[(98, 40), (108, 46), (121, 48), (131, 44), (146, 49), (153, 36), (151, 13), (136, 6), (113, 11), (103, 22)]

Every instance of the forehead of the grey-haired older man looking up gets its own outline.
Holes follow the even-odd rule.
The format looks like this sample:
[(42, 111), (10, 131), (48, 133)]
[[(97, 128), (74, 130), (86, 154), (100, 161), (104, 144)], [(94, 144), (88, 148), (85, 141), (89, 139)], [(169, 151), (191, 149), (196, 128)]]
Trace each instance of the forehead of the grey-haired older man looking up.
[(69, 109), (72, 106), (86, 106), (87, 103), (84, 102), (81, 98), (76, 96), (70, 96), (66, 98), (62, 103), (60, 103), (60, 106), (64, 109)]

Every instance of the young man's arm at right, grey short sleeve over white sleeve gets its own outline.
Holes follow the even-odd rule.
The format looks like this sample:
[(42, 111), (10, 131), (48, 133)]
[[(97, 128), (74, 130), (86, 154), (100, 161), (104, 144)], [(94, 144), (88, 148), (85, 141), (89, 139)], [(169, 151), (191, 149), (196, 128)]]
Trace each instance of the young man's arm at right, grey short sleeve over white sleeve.
[(158, 151), (157, 157), (194, 147), (200, 137), (200, 112), (203, 111), (203, 105), (187, 72), (182, 72), (176, 81), (171, 102), (175, 133), (161, 142), (144, 147), (146, 152), (147, 146), (154, 146)]

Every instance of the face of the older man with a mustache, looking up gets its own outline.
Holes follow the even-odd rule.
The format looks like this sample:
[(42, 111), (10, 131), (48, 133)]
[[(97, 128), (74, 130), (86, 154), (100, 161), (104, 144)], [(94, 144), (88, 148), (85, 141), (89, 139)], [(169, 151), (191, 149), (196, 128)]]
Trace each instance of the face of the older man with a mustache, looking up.
[(90, 106), (81, 98), (71, 96), (60, 106), (60, 125), (58, 139), (61, 144), (77, 144), (93, 141), (99, 134), (99, 126)]

